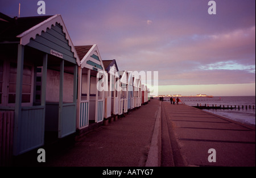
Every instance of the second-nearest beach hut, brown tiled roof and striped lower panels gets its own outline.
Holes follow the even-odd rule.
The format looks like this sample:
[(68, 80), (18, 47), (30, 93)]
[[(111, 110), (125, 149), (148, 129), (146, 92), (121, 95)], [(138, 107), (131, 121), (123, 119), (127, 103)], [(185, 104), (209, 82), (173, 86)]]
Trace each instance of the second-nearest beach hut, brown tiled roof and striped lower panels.
[[(89, 124), (101, 123), (104, 118), (105, 68), (97, 44), (76, 46), (79, 55), (78, 92), (77, 92), (77, 129)], [(98, 85), (99, 84), (99, 85)]]

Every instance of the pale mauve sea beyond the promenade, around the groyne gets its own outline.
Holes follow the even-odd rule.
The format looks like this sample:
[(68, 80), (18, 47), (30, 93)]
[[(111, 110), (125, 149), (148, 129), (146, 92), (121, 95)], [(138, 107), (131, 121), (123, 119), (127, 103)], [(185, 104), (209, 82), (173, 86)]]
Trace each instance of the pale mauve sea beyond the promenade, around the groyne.
[[(189, 106), (232, 106), (236, 109), (203, 109), (213, 114), (232, 119), (237, 122), (255, 126), (255, 96), (214, 96), (208, 97), (179, 97), (183, 104)], [(240, 106), (240, 109), (238, 109)], [(242, 109), (243, 106), (243, 109)], [(247, 109), (246, 109), (247, 106)], [(253, 109), (254, 106), (254, 109)], [(251, 107), (251, 108), (249, 108)]]

